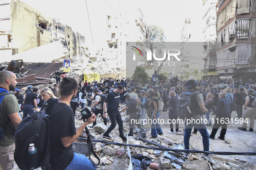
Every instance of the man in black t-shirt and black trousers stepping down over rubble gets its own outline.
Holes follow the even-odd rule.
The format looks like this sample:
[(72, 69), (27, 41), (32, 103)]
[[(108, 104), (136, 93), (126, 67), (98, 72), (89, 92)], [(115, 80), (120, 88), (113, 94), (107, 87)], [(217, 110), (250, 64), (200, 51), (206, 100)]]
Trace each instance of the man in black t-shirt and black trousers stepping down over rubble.
[[(119, 136), (126, 142), (126, 137), (123, 133), (123, 120), (121, 117), (121, 113), (118, 110), (119, 102), (120, 102), (120, 94), (123, 92), (123, 85), (117, 85), (117, 88), (113, 91), (110, 91), (107, 94), (107, 98), (104, 101), (103, 105), (103, 117), (107, 116), (107, 113), (110, 118), (111, 125), (107, 129), (107, 131), (103, 134), (104, 137), (111, 138), (109, 133), (116, 127), (118, 123)], [(107, 108), (107, 111), (106, 111)]]

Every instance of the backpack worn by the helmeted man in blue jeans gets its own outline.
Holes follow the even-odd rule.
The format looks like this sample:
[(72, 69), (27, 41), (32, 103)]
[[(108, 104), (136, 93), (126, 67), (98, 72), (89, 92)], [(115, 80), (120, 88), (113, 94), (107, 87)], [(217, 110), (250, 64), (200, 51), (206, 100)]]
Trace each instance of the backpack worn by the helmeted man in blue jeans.
[(191, 119), (193, 116), (191, 113), (191, 98), (197, 94), (199, 93), (195, 91), (187, 96), (185, 91), (183, 92), (184, 97), (182, 97), (177, 104), (177, 113), (181, 120), (185, 121), (186, 119)]

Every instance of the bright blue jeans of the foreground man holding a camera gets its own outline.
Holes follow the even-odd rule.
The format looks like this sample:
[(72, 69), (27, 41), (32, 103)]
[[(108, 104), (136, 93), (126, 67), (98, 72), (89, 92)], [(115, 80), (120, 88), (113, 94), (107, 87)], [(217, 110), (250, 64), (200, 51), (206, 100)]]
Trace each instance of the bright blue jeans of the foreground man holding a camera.
[(84, 155), (74, 153), (74, 158), (65, 170), (96, 170), (96, 167)]

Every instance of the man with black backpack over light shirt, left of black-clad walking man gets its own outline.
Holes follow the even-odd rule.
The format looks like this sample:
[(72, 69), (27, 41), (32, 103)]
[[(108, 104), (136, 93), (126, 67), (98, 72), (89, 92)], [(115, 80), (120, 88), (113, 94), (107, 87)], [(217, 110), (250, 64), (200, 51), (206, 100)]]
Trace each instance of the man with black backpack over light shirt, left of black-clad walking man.
[[(91, 110), (96, 106), (96, 109), (94, 110), (95, 116), (97, 116), (100, 113), (100, 116), (103, 118), (104, 124), (107, 126), (107, 119), (106, 117), (103, 117), (103, 103), (106, 99), (106, 96), (100, 94), (98, 89), (94, 89), (93, 93), (94, 93), (95, 102), (94, 102), (94, 105), (91, 107)], [(96, 119), (93, 122), (93, 125), (89, 126), (90, 128), (93, 128), (97, 124)]]

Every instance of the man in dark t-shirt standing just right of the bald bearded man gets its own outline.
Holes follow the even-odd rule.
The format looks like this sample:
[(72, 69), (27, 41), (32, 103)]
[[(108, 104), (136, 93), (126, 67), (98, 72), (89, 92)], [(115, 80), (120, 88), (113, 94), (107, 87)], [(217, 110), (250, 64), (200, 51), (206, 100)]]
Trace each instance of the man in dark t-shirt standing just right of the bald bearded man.
[(23, 104), (23, 119), (33, 114), (33, 108), (37, 108), (37, 91), (38, 88), (33, 88), (33, 92), (27, 93), (27, 95), (24, 98), (24, 104)]

